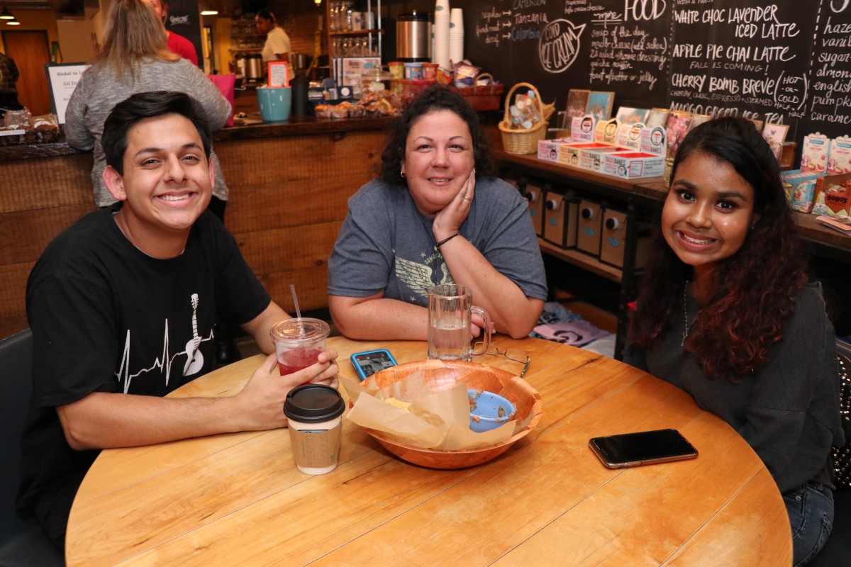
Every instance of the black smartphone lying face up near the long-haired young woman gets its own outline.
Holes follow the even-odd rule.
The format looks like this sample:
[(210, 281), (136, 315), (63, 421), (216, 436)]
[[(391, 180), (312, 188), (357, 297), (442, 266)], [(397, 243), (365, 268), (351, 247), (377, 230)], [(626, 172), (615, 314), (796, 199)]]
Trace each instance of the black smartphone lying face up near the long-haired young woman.
[(698, 454), (697, 449), (677, 429), (594, 437), (588, 444), (608, 468), (682, 461), (694, 459)]

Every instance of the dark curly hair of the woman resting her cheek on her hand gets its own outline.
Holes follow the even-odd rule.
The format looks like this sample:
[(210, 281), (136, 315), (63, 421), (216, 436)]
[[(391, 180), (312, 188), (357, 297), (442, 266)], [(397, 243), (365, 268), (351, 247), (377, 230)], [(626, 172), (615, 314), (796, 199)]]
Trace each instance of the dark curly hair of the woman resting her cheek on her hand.
[(452, 111), (467, 123), (472, 138), (477, 177), (495, 177), (496, 167), (490, 153), (490, 144), (482, 130), (477, 112), (454, 88), (435, 84), (426, 88), (405, 108), (402, 116), (393, 121), (390, 136), (381, 153), (381, 179), (391, 185), (406, 185), (400, 172), (405, 159), (408, 133), (414, 122), (432, 111)]

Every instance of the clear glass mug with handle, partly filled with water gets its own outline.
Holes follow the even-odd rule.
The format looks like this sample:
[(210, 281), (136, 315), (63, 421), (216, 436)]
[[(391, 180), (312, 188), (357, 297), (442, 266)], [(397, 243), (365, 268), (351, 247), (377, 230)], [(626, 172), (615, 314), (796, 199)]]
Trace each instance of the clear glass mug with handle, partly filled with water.
[[(472, 315), (484, 320), (484, 340), (471, 346)], [(471, 360), (490, 348), (490, 315), (473, 305), (473, 292), (458, 284), (432, 286), (428, 291), (428, 357), (441, 360)], [(481, 338), (481, 337), (480, 337)]]

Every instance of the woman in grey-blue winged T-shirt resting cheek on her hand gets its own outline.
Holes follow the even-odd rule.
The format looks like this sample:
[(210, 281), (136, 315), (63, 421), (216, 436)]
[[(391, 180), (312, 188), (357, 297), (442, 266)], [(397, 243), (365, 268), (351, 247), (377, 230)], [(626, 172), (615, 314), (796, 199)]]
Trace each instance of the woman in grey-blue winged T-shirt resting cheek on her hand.
[[(524, 337), (546, 299), (528, 203), (494, 177), (478, 116), (442, 86), (397, 118), (381, 177), (349, 200), (328, 261), (328, 307), (347, 337), (428, 336), (428, 290), (473, 290), (496, 331)], [(473, 334), (479, 327), (471, 329)]]

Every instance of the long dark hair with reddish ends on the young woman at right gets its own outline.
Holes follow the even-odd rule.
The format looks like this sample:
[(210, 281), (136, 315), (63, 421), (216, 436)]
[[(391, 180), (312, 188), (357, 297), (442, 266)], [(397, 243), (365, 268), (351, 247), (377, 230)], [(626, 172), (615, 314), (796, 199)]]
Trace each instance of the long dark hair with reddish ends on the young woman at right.
[[(685, 344), (707, 376), (735, 380), (768, 363), (768, 349), (783, 337), (798, 292), (808, 282), (807, 258), (780, 166), (752, 122), (728, 116), (694, 128), (677, 150), (671, 179), (695, 154), (728, 162), (754, 191), (755, 224), (739, 251), (715, 270), (715, 294), (700, 309)], [(643, 349), (679, 328), (675, 315), (692, 273), (665, 242), (658, 224), (652, 251), (631, 320), (630, 340)]]

